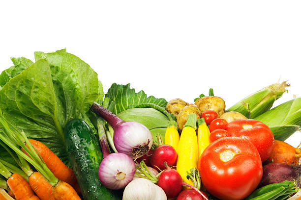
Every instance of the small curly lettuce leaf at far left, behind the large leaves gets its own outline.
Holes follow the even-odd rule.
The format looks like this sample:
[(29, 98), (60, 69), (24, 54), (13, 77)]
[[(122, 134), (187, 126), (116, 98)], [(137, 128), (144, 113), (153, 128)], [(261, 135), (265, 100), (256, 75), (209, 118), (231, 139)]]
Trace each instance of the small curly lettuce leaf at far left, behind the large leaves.
[(14, 66), (2, 71), (0, 74), (0, 87), (2, 88), (11, 78), (19, 75), (25, 69), (27, 69), (33, 62), (25, 57), (11, 58)]

